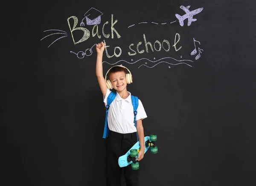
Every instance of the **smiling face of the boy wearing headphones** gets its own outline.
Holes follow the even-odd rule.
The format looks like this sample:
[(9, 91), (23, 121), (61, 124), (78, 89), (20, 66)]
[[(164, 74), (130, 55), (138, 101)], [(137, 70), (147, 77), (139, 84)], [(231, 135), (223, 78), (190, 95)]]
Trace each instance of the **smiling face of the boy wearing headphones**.
[(122, 91), (126, 88), (126, 74), (124, 72), (111, 73), (109, 79), (116, 91)]

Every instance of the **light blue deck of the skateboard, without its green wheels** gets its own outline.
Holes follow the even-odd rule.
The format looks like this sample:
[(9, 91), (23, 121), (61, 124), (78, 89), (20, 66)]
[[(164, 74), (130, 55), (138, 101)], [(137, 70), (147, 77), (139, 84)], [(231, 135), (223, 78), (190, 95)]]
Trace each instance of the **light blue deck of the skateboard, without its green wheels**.
[[(152, 145), (153, 144), (153, 145)], [(149, 136), (145, 136), (144, 137), (144, 145), (145, 145), (145, 150), (144, 150), (144, 154), (146, 153), (146, 151), (148, 151), (148, 149), (151, 147), (151, 146), (154, 146), (154, 142), (153, 141), (150, 141), (150, 137)], [(155, 148), (157, 148), (155, 146)], [(135, 163), (136, 159), (134, 157), (131, 157), (131, 152), (130, 150), (131, 149), (137, 149), (137, 152), (140, 151), (140, 143), (139, 141), (137, 141), (127, 152), (126, 154), (120, 156), (118, 158), (118, 165), (119, 167), (125, 167), (125, 166), (128, 166), (130, 165), (131, 163)], [(153, 153), (153, 152), (152, 152)], [(154, 152), (154, 153), (157, 153)]]

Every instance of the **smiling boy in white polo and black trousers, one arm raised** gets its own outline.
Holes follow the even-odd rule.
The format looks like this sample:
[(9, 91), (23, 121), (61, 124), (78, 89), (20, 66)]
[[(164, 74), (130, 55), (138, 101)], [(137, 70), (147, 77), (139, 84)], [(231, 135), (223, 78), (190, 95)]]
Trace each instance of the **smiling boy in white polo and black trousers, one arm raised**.
[[(107, 105), (108, 89), (103, 77), (102, 56), (105, 45), (103, 42), (96, 44), (96, 76), (99, 87)], [(131, 75), (131, 74), (130, 74)], [(121, 186), (122, 168), (118, 165), (118, 158), (125, 154), (136, 142), (140, 142), (140, 151), (137, 160), (144, 157), (144, 129), (142, 119), (147, 117), (142, 102), (139, 105), (136, 115), (136, 127), (134, 126), (134, 110), (131, 102), (131, 93), (127, 91), (126, 71), (123, 67), (112, 67), (108, 72), (109, 80), (116, 90), (116, 98), (113, 100), (108, 111), (109, 134), (107, 137), (107, 186)], [(128, 80), (129, 82), (130, 80)], [(137, 134), (136, 134), (137, 132)], [(137, 136), (138, 135), (138, 136)], [(138, 186), (138, 170), (132, 170), (131, 166), (123, 168), (126, 186)]]

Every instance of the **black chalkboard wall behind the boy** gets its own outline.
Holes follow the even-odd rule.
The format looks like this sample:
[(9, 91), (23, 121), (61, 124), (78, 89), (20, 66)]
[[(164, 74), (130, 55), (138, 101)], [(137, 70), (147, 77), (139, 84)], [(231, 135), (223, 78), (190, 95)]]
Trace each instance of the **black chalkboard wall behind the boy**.
[[(180, 26), (180, 6), (204, 9), (190, 26), (188, 19)], [(84, 19), (90, 38), (74, 44), (67, 19), (76, 16), (80, 27), (91, 8), (103, 14), (101, 38), (92, 36), (94, 25)], [(158, 137), (159, 153), (147, 152), (140, 162), (140, 186), (256, 184), (255, 1), (46, 0), (11, 9), (12, 26), (3, 35), (9, 55), (1, 69), (2, 186), (105, 185), (105, 107), (94, 45), (103, 40), (109, 55), (122, 49), (119, 57), (104, 53), (104, 73), (113, 64), (128, 67), (134, 78), (128, 91), (148, 115), (145, 135)], [(115, 32), (111, 38), (111, 15), (121, 38)], [(106, 21), (110, 38), (102, 34)], [(60, 31), (46, 31), (51, 29)], [(62, 34), (50, 35), (57, 32)], [(145, 50), (143, 35), (154, 52), (148, 45), (148, 52), (128, 55), (130, 44), (137, 51), (140, 41)], [(76, 42), (82, 36), (73, 32)], [(197, 53), (191, 55), (194, 39)], [(163, 44), (160, 51), (155, 41)], [(195, 59), (198, 47), (201, 57)]]

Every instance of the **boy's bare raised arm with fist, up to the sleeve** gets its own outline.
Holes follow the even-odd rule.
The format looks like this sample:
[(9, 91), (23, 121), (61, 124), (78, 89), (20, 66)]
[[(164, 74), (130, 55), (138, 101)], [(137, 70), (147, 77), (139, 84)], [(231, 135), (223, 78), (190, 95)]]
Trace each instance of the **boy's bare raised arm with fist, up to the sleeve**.
[(105, 97), (108, 87), (107, 87), (105, 78), (103, 76), (103, 67), (102, 67), (102, 57), (103, 57), (104, 49), (105, 49), (105, 45), (103, 42), (96, 44), (96, 51), (97, 51), (96, 76), (99, 82), (100, 90), (102, 91), (102, 94)]

